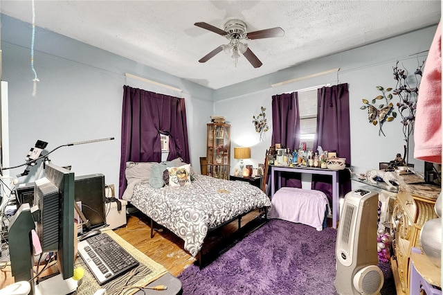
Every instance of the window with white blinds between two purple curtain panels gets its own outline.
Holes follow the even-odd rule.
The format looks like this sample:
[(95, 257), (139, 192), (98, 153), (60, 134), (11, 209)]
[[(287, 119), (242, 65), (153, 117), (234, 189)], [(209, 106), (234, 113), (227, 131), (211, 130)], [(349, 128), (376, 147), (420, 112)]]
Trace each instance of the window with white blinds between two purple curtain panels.
[(317, 129), (317, 89), (298, 92), (300, 114), (300, 143), (305, 142), (308, 150), (314, 150)]

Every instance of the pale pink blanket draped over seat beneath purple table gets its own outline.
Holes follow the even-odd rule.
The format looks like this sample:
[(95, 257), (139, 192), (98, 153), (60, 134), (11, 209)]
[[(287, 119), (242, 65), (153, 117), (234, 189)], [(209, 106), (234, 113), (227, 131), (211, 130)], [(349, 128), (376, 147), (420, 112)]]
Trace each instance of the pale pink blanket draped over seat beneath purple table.
[(301, 188), (280, 188), (272, 197), (269, 218), (298, 222), (321, 231), (325, 212), (330, 213), (325, 193)]

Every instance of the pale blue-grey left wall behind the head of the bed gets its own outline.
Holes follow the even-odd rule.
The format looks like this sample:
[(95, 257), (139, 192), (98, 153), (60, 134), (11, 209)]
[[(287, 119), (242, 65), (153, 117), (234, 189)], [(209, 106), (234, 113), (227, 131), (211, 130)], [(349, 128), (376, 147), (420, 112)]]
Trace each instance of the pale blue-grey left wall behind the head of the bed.
[[(46, 152), (59, 145), (115, 137), (86, 145), (62, 147), (49, 156), (57, 165), (71, 165), (75, 175), (102, 173), (118, 191), (123, 85), (165, 93), (152, 84), (127, 79), (132, 73), (183, 90), (190, 136), (191, 164), (199, 170), (206, 153), (206, 122), (213, 114), (213, 91), (156, 69), (37, 28), (35, 69), (39, 82), (33, 97), (30, 67), (31, 26), (1, 15), (3, 80), (8, 82), (10, 166), (25, 162), (37, 139)], [(45, 152), (45, 153), (46, 153)], [(10, 171), (14, 176), (24, 167)], [(33, 181), (37, 167), (19, 182)]]

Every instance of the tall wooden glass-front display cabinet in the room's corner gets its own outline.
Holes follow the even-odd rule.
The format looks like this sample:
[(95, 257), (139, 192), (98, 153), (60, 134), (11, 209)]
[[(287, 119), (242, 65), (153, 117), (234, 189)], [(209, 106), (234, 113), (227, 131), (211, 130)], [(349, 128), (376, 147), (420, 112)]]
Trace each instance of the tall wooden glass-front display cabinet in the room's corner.
[(226, 123), (208, 123), (206, 138), (207, 175), (229, 179), (230, 125)]

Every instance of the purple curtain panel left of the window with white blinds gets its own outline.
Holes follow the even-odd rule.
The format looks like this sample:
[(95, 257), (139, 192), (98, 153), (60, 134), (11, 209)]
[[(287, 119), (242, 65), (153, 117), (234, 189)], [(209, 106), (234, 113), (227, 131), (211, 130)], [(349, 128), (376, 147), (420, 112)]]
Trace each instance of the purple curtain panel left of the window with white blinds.
[[(272, 96), (272, 141), (282, 144), (291, 151), (300, 145), (300, 114), (298, 112), (298, 93), (283, 93)], [(301, 188), (301, 175), (293, 177), (282, 175), (282, 186)], [(270, 177), (269, 177), (270, 178)]]

